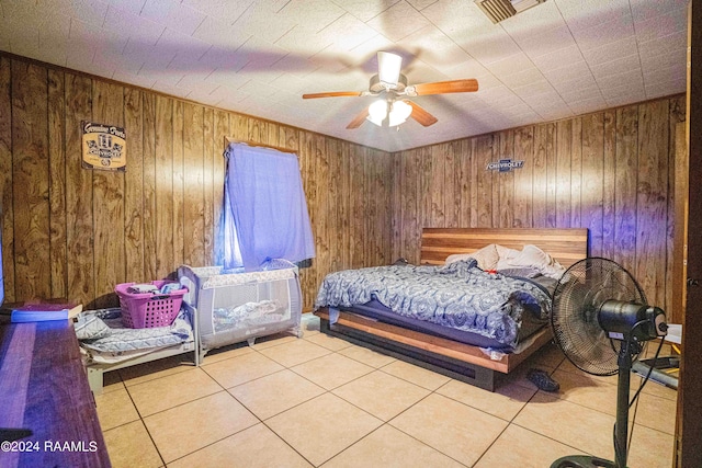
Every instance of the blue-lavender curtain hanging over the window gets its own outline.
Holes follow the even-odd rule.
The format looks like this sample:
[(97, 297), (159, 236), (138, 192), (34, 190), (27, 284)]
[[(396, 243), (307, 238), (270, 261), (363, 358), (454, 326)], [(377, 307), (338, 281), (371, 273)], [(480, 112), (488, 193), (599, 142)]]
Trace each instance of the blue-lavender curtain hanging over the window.
[(272, 259), (314, 258), (297, 157), (246, 144), (230, 144), (225, 157), (224, 267), (258, 271)]

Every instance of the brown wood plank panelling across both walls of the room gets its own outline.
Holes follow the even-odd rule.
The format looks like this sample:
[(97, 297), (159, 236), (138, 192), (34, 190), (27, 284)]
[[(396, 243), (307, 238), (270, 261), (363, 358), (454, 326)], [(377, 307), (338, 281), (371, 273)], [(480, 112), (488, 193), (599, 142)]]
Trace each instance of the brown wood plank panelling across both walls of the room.
[[(80, 122), (124, 125), (127, 171), (80, 167)], [(0, 190), (7, 300), (115, 304), (114, 285), (213, 264), (224, 137), (295, 150), (328, 272), (419, 261), (422, 227), (587, 227), (670, 311), (675, 125), (661, 99), (388, 155), (282, 124), (0, 55)], [(499, 158), (514, 172), (485, 171)]]

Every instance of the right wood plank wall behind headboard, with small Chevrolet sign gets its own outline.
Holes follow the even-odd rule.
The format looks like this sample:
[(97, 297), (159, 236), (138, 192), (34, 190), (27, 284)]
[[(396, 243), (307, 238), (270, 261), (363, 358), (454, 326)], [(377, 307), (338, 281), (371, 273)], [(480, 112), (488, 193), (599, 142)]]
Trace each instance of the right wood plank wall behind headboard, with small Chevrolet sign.
[[(393, 258), (422, 227), (584, 227), (590, 254), (624, 265), (671, 309), (675, 126), (684, 96), (393, 153)], [(498, 159), (513, 172), (486, 171)]]

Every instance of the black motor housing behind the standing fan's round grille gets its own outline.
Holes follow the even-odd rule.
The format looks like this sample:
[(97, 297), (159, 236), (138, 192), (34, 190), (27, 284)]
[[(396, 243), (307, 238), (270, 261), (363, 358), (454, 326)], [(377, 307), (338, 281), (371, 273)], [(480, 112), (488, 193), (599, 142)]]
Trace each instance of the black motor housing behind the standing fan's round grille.
[(600, 306), (598, 321), (610, 338), (636, 341), (655, 340), (667, 334), (666, 313), (658, 307), (608, 299)]

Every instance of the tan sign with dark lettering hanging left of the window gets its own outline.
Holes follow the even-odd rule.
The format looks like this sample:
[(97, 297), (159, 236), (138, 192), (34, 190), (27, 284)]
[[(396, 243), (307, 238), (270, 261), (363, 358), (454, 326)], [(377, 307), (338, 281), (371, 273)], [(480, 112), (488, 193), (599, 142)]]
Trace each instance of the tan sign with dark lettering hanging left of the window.
[(87, 121), (81, 124), (83, 168), (125, 172), (127, 160), (124, 128)]

